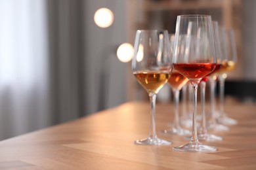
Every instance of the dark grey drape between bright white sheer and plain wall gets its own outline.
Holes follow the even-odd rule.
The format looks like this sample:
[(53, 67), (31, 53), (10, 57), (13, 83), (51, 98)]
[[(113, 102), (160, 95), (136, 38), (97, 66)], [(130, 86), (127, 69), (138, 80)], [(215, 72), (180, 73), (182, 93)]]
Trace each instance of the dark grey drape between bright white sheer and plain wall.
[(83, 1), (47, 1), (51, 114), (54, 123), (86, 114)]

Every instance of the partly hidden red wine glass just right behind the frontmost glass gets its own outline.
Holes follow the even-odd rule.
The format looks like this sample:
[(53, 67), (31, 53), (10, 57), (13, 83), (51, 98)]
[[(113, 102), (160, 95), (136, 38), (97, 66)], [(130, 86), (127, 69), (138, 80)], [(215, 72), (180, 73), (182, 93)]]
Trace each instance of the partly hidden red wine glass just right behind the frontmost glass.
[(215, 131), (227, 131), (229, 128), (224, 126), (223, 124), (219, 124), (217, 122), (217, 110), (215, 108), (215, 88), (217, 84), (217, 77), (221, 72), (223, 67), (223, 61), (225, 59), (225, 53), (223, 51), (223, 46), (221, 46), (221, 36), (219, 34), (219, 24), (218, 22), (213, 22), (213, 30), (215, 33), (215, 50), (216, 50), (216, 58), (217, 58), (217, 65), (215, 70), (208, 75), (209, 85), (210, 85), (210, 113), (211, 118), (209, 119), (207, 129), (215, 130)]

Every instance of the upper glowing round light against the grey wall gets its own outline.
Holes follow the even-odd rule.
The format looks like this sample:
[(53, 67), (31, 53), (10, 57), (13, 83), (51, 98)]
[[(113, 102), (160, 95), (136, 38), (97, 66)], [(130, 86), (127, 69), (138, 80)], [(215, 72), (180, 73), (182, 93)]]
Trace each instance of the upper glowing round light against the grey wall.
[(114, 22), (114, 14), (110, 9), (102, 8), (95, 12), (95, 24), (99, 27), (109, 27)]

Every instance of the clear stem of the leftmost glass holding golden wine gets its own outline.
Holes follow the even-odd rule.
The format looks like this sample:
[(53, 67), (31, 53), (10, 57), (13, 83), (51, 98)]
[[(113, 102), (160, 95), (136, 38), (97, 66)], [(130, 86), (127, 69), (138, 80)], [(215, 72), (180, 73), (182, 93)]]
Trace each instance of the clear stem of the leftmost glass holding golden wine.
[(156, 139), (156, 93), (149, 93), (150, 97), (150, 134), (149, 137)]

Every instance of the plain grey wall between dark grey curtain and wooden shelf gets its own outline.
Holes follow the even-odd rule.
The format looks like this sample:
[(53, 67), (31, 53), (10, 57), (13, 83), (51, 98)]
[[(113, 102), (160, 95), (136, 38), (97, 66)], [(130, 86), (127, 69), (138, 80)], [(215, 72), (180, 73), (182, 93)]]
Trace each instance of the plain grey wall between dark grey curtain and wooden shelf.
[[(100, 28), (93, 20), (95, 11), (107, 7), (114, 12), (114, 23)], [(114, 107), (126, 101), (126, 74), (129, 63), (116, 57), (117, 45), (127, 41), (127, 1), (85, 1), (85, 110)]]

